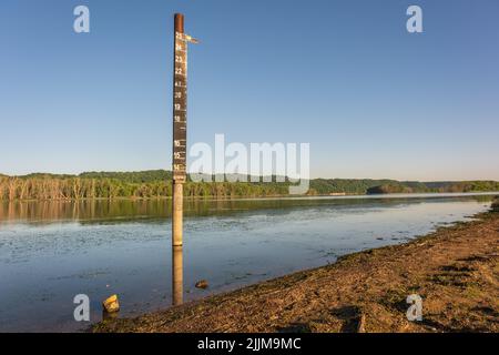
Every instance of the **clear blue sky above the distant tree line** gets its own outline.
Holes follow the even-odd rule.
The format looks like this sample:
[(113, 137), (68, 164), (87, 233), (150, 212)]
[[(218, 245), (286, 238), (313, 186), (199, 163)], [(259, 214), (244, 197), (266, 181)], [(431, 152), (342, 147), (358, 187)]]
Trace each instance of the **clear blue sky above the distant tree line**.
[(0, 172), (170, 169), (174, 12), (202, 40), (190, 143), (309, 142), (313, 176), (499, 180), (497, 0), (2, 0)]

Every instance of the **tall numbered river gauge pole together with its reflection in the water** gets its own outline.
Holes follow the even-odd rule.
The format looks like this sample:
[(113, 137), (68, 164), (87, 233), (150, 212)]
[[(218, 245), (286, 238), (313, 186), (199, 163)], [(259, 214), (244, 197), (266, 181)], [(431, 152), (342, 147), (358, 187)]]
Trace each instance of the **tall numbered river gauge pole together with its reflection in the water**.
[(172, 285), (173, 304), (183, 302), (183, 187), (186, 181), (187, 146), (187, 43), (197, 43), (184, 32), (184, 16), (175, 13), (173, 49), (173, 199)]

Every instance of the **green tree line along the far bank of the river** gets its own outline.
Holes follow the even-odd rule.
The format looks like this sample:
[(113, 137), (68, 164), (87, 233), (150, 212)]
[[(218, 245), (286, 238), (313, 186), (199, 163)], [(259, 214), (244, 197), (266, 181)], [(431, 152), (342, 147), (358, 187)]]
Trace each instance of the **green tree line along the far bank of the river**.
[[(79, 175), (0, 174), (0, 200), (82, 200), (82, 199), (152, 199), (172, 194), (172, 173), (164, 170), (142, 172), (85, 172)], [(194, 183), (187, 180), (185, 196), (242, 197), (288, 194), (289, 182), (221, 182)], [(309, 195), (376, 194), (419, 192), (499, 191), (499, 182), (399, 182), (394, 180), (315, 179)]]

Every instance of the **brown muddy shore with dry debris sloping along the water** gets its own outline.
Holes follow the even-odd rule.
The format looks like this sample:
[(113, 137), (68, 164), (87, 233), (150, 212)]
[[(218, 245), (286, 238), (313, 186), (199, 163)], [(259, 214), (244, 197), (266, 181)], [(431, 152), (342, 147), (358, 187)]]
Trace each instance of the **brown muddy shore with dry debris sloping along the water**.
[[(422, 297), (409, 322), (406, 297)], [(93, 332), (499, 332), (499, 212)]]

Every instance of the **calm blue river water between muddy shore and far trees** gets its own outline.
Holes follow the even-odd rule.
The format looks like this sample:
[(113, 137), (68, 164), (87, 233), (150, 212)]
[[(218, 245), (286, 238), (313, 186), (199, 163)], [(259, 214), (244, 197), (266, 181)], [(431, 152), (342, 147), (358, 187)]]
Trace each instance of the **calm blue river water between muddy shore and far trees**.
[[(340, 255), (399, 244), (486, 211), (490, 195), (418, 194), (187, 201), (186, 301)], [(73, 297), (91, 321), (116, 293), (121, 316), (167, 307), (172, 297), (171, 202), (0, 203), (0, 332), (68, 332)], [(210, 287), (194, 287), (207, 280)]]

